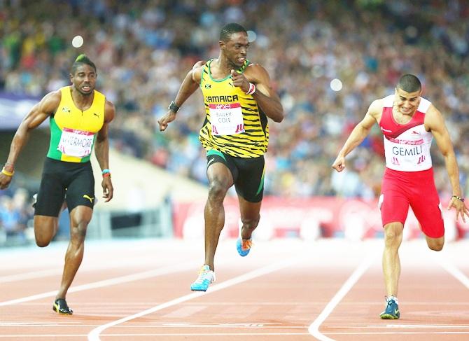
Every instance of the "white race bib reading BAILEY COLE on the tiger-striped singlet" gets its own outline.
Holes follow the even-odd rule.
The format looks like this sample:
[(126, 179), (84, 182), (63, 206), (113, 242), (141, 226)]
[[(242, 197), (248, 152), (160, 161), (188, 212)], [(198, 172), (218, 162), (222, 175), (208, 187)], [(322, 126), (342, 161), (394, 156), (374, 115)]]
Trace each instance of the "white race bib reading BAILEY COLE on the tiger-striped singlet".
[(211, 133), (214, 135), (234, 135), (244, 132), (241, 104), (209, 104)]

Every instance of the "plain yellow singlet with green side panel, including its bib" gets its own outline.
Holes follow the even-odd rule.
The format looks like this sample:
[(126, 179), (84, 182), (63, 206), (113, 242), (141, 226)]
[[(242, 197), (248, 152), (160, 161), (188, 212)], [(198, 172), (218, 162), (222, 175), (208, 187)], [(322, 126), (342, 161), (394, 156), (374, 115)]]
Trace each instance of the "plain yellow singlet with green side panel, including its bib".
[(104, 124), (106, 97), (94, 90), (89, 109), (81, 111), (73, 103), (71, 88), (60, 89), (62, 99), (57, 111), (50, 116), (50, 146), (48, 158), (65, 162), (87, 162), (96, 133)]

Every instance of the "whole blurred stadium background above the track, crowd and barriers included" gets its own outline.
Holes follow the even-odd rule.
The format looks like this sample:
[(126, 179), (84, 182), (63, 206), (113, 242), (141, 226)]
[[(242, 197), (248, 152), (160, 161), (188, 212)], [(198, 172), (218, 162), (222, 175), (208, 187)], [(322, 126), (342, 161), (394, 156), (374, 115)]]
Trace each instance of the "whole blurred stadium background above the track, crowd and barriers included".
[[(350, 155), (346, 172), (332, 172), (330, 165), (367, 106), (393, 93), (404, 73), (419, 76), (424, 97), (444, 114), (468, 195), (465, 0), (0, 0), (0, 162), (22, 117), (47, 92), (69, 84), (69, 67), (86, 53), (97, 64), (97, 90), (117, 108), (110, 155), (116, 193), (112, 202), (98, 202), (89, 238), (202, 237), (207, 180), (197, 139), (204, 117), (200, 92), (164, 134), (156, 120), (188, 69), (218, 56), (218, 34), (227, 22), (249, 30), (248, 59), (269, 71), (286, 112), (282, 123), (269, 123), (258, 238), (381, 236), (379, 129)], [(85, 43), (73, 48), (77, 34)], [(45, 122), (22, 152), (12, 185), (0, 192), (1, 246), (34, 239), (31, 196), (48, 138)], [(451, 188), (439, 153), (433, 163), (445, 204)], [(235, 237), (234, 192), (226, 212), (223, 236)], [(447, 237), (465, 237), (469, 225), (444, 214)], [(67, 219), (62, 214), (56, 239), (68, 238)], [(412, 217), (408, 225), (406, 237), (419, 237)]]

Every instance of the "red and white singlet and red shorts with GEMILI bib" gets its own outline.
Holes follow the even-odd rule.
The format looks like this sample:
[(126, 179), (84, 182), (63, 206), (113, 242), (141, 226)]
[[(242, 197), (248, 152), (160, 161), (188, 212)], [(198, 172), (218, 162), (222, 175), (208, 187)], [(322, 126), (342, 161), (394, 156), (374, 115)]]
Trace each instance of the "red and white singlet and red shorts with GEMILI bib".
[[(421, 97), (418, 100), (414, 114), (408, 118), (402, 116), (401, 123), (393, 115), (395, 95), (381, 100), (383, 109), (379, 127), (384, 135), (386, 171), (379, 208), (383, 226), (395, 221), (403, 226), (410, 205), (422, 232), (427, 237), (440, 239), (444, 237), (444, 226), (440, 199), (433, 181), (430, 155), (433, 134), (425, 127), (426, 113), (431, 103)], [(429, 239), (429, 246), (430, 249), (441, 249), (443, 239), (435, 242)]]

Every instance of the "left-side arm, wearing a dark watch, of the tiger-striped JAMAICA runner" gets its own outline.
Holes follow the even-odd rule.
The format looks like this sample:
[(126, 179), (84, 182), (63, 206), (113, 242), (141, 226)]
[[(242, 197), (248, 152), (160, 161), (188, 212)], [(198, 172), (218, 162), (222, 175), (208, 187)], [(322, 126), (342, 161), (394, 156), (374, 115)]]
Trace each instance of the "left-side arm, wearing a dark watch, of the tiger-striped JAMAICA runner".
[[(202, 68), (204, 67), (205, 62), (200, 60), (195, 63), (193, 68), (188, 72), (186, 78), (184, 78), (183, 83), (179, 87), (178, 94), (176, 99), (174, 99), (174, 104), (181, 107), (184, 102), (192, 95), (195, 90), (199, 87), (200, 78), (202, 77)], [(163, 132), (168, 127), (168, 124), (176, 118), (176, 113), (172, 110), (167, 111), (162, 118), (158, 120), (158, 125), (160, 125), (160, 132)]]

